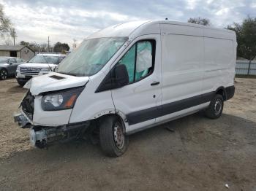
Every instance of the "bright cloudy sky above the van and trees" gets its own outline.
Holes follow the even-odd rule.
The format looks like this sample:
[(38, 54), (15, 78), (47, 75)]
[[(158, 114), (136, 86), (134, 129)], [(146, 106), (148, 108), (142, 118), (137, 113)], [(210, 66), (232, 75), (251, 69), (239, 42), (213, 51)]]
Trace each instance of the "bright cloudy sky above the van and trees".
[(133, 20), (178, 20), (206, 17), (211, 26), (224, 28), (256, 17), (256, 0), (148, 0), (72, 1), (0, 0), (15, 26), (16, 42), (81, 42), (102, 28)]

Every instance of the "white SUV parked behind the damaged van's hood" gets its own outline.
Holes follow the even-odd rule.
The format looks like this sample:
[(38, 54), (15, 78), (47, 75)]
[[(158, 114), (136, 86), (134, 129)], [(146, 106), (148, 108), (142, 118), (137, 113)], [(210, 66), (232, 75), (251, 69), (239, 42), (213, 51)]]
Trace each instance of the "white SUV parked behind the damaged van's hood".
[(66, 57), (63, 54), (37, 54), (27, 63), (18, 66), (16, 79), (20, 86), (26, 84), (32, 77), (48, 74), (54, 71), (58, 64)]

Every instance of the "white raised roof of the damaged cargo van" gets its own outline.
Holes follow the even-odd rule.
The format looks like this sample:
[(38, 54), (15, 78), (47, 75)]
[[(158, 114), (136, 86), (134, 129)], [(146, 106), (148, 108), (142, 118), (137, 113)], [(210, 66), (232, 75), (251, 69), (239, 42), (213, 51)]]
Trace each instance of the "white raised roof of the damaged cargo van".
[[(194, 28), (206, 28), (211, 29), (211, 31), (224, 32), (225, 34), (235, 34), (234, 31), (230, 31), (224, 28), (212, 28), (208, 26), (197, 25), (193, 23), (182, 23), (178, 21), (170, 20), (141, 20), (133, 21), (129, 23), (121, 23), (115, 26), (110, 26), (108, 28), (102, 29), (94, 34), (91, 34), (87, 39), (101, 38), (101, 37), (113, 37), (113, 36), (131, 36), (131, 34), (159, 34), (159, 24), (169, 24), (176, 26), (190, 26)], [(141, 34), (140, 34), (141, 35)]]

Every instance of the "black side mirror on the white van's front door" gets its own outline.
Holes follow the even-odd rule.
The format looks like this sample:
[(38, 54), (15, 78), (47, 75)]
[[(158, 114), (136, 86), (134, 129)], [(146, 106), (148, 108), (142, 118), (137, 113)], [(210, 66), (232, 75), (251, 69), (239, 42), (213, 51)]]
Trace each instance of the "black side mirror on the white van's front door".
[(129, 83), (127, 66), (125, 66), (124, 64), (116, 65), (115, 74), (116, 74), (115, 81), (116, 81), (117, 87), (123, 87), (124, 85), (127, 85)]

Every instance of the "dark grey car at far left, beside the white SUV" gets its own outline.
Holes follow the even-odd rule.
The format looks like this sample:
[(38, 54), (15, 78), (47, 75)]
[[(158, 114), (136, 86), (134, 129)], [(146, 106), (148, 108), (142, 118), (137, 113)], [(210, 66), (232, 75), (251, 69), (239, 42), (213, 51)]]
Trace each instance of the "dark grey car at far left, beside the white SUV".
[(24, 63), (23, 59), (15, 57), (0, 57), (0, 79), (15, 76), (17, 66)]

